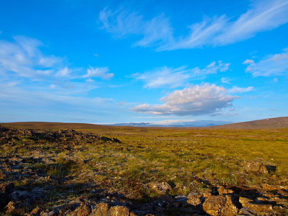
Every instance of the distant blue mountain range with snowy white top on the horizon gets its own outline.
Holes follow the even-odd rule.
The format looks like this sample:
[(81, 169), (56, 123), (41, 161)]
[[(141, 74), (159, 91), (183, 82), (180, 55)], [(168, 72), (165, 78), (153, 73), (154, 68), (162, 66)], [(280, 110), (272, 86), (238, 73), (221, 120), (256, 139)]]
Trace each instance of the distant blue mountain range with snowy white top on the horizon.
[(209, 127), (223, 124), (231, 124), (232, 121), (216, 121), (216, 120), (164, 120), (157, 122), (130, 122), (105, 124), (109, 126), (132, 126), (132, 127)]

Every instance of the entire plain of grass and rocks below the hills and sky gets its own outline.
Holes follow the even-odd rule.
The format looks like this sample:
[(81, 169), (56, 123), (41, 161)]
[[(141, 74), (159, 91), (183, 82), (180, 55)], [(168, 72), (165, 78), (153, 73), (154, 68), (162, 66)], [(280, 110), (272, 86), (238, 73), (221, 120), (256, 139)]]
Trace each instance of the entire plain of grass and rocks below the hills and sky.
[(288, 128), (28, 127), (1, 126), (2, 215), (288, 215)]

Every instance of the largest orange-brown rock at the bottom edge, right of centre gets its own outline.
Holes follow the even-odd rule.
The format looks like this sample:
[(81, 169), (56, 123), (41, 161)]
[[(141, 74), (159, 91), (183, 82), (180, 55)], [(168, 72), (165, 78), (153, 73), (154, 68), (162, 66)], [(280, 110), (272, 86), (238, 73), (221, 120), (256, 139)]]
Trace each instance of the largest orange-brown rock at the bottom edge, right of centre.
[(203, 209), (213, 216), (234, 216), (238, 214), (238, 208), (232, 201), (231, 195), (211, 196), (203, 203)]

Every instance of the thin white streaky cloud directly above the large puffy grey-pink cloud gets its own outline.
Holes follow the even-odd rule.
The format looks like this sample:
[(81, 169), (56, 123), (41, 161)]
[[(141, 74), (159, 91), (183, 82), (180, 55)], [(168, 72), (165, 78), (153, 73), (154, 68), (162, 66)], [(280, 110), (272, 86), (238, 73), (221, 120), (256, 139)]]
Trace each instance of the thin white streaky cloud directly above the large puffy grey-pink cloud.
[(175, 88), (183, 85), (191, 77), (227, 71), (229, 67), (230, 63), (223, 63), (222, 61), (211, 62), (203, 69), (199, 67), (188, 69), (187, 66), (178, 68), (164, 66), (145, 73), (134, 73), (132, 77), (145, 82), (145, 88), (160, 88), (164, 86)]

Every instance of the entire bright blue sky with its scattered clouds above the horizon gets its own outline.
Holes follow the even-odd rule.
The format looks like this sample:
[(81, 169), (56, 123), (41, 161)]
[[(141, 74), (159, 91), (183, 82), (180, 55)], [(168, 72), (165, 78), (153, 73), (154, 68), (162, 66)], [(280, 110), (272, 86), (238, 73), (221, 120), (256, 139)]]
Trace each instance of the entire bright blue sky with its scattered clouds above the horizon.
[(1, 1), (0, 122), (287, 116), (288, 1)]

